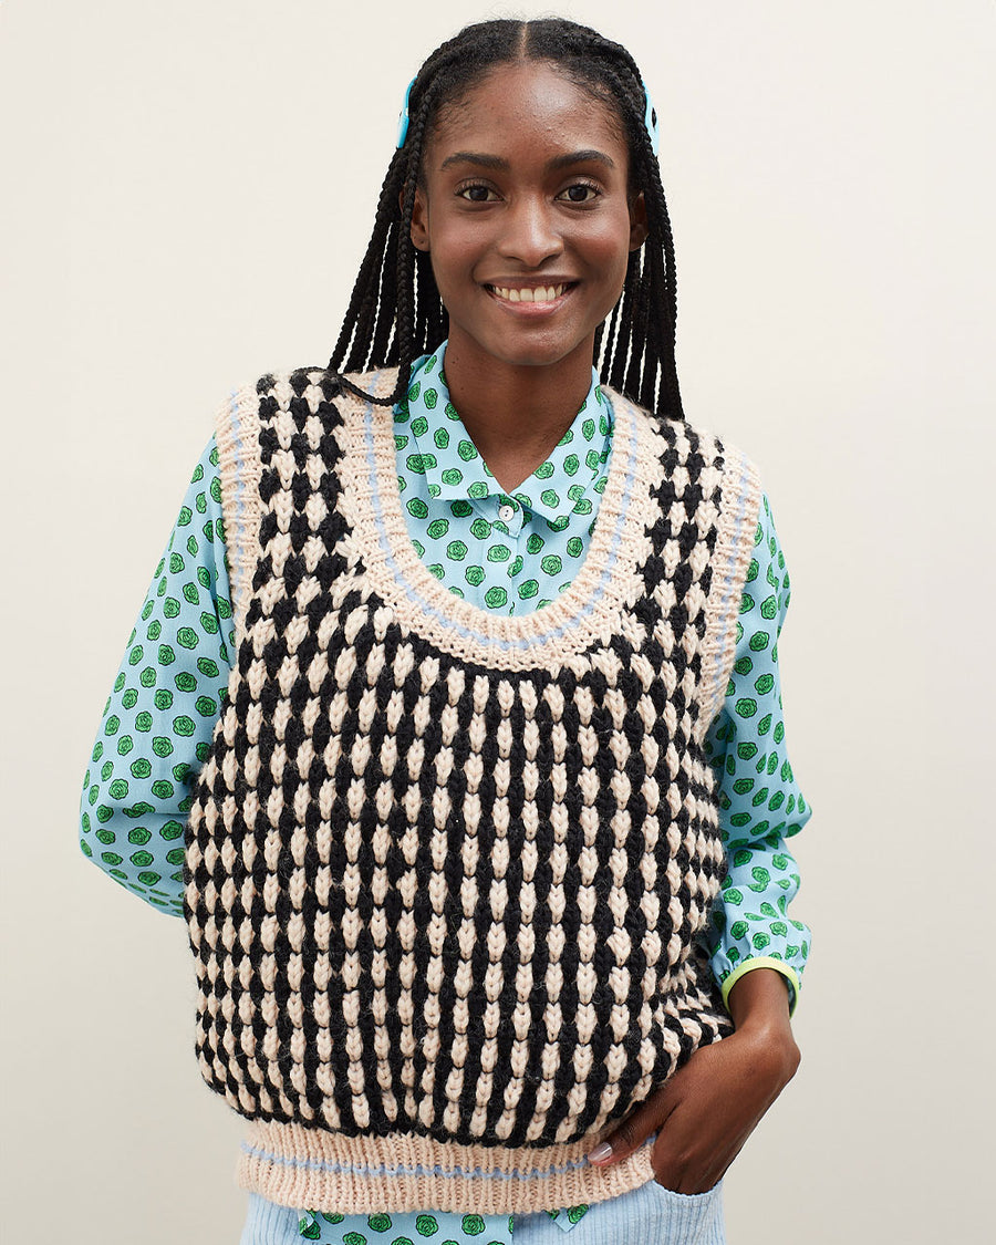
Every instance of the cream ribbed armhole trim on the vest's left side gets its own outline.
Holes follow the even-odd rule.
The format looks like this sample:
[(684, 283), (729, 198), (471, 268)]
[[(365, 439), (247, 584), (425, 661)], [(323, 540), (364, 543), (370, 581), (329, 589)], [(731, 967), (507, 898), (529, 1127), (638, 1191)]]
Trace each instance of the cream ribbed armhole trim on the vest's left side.
[(259, 395), (255, 385), (233, 390), (215, 418), (222, 481), (222, 519), (232, 580), (235, 646), (245, 637), (245, 615), (259, 559)]

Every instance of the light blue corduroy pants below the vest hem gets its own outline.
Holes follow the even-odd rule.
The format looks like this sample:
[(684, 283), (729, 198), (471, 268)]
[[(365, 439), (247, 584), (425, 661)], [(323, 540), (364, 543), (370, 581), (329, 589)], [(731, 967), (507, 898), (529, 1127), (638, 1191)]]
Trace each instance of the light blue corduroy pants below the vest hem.
[[(514, 1245), (726, 1245), (722, 1180), (693, 1195), (671, 1193), (650, 1180), (632, 1193), (594, 1203), (569, 1233), (545, 1211), (515, 1215), (512, 1238)], [(250, 1193), (239, 1245), (306, 1243), (298, 1233), (295, 1210)]]

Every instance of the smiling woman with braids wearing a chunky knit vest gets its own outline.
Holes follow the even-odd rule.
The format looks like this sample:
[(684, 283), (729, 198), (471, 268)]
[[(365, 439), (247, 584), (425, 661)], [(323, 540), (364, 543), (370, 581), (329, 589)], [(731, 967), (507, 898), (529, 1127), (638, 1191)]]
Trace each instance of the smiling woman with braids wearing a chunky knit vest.
[[(187, 554), (219, 622), (230, 574), (235, 651), (205, 609), (177, 627), (205, 603), (171, 591), (174, 533), (159, 666), (128, 688), (131, 650), (102, 733), (157, 688), (131, 774), (189, 788), (167, 881), (202, 1072), (249, 1120), (243, 1245), (723, 1240), (722, 1175), (798, 1063), (808, 808), (784, 560), (753, 467), (684, 422), (675, 315), (632, 59), (484, 22), (408, 88), (329, 366), (219, 413), (223, 532)], [(162, 686), (215, 632), (220, 713), (193, 666)], [(100, 849), (115, 802), (166, 813), (132, 778), (87, 774), (83, 849), (176, 905), (146, 827), (144, 880)]]

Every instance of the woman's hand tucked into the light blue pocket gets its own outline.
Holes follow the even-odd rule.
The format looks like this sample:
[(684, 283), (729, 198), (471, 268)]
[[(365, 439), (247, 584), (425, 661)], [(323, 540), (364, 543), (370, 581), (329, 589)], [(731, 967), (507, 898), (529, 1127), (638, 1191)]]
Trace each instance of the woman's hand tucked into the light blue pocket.
[[(736, 1031), (700, 1047), (595, 1147), (590, 1162), (618, 1163), (656, 1133), (651, 1164), (659, 1184), (693, 1194), (718, 1183), (801, 1058), (788, 1020), (786, 981), (776, 969), (746, 972), (730, 991), (727, 1006)], [(603, 1150), (606, 1143), (610, 1153)]]

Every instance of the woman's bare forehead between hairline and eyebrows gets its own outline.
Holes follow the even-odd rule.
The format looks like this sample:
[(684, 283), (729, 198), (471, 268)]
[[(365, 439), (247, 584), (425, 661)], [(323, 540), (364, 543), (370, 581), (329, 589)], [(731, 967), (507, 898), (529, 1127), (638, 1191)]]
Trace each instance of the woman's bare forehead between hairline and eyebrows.
[(428, 148), (436, 168), (454, 151), (545, 159), (595, 148), (624, 169), (629, 154), (615, 107), (549, 61), (497, 66), (439, 110)]

